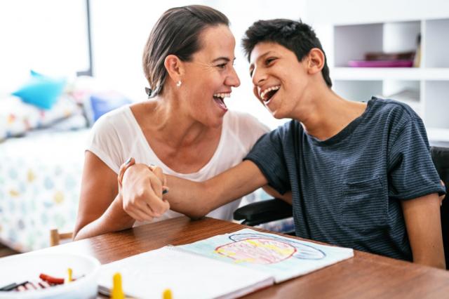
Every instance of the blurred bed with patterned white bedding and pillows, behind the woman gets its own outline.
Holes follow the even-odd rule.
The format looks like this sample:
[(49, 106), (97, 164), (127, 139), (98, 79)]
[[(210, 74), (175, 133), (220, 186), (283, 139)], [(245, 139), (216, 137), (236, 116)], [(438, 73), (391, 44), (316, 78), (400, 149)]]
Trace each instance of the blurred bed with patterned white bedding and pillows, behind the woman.
[(91, 77), (66, 82), (34, 71), (0, 97), (2, 244), (34, 251), (50, 245), (51, 229), (73, 230), (88, 126), (129, 102)]

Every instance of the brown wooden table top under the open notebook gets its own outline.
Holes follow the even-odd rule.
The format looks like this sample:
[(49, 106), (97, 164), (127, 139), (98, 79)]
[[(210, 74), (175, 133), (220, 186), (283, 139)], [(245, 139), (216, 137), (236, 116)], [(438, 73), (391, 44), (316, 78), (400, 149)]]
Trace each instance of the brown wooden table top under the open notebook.
[[(244, 227), (212, 218), (191, 221), (181, 217), (46, 248), (42, 252), (87, 254), (104, 264), (167, 244), (187, 244)], [(355, 251), (354, 258), (244, 298), (449, 298), (449, 272)]]

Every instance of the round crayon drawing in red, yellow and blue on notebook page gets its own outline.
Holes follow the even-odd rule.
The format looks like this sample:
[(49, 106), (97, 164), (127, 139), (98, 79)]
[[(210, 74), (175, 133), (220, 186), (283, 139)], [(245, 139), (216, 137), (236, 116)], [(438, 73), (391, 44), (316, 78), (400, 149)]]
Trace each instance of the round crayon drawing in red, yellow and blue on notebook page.
[(326, 253), (318, 248), (290, 241), (286, 238), (276, 238), (266, 234), (232, 234), (231, 243), (218, 246), (215, 252), (231, 258), (236, 263), (273, 264), (288, 258), (320, 260)]

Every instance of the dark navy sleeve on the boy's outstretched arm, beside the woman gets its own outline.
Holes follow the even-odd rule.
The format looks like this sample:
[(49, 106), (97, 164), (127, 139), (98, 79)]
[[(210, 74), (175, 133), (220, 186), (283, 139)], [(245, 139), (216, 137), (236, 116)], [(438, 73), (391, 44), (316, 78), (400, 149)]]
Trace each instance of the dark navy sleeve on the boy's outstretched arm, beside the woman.
[(253, 161), (280, 194), (290, 190), (288, 168), (283, 153), (280, 128), (266, 133), (255, 143), (245, 160)]

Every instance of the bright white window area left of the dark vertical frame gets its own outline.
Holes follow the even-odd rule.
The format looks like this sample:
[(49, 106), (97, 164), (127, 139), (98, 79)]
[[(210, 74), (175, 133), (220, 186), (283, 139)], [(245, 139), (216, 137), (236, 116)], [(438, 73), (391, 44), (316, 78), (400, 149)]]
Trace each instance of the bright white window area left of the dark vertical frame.
[(0, 95), (29, 69), (72, 76), (88, 67), (85, 0), (0, 1)]

